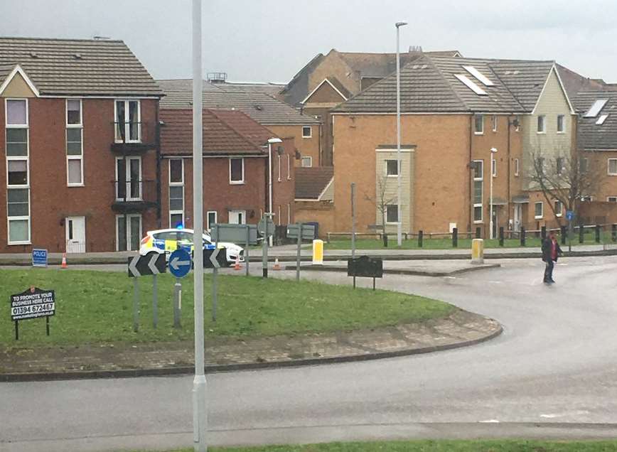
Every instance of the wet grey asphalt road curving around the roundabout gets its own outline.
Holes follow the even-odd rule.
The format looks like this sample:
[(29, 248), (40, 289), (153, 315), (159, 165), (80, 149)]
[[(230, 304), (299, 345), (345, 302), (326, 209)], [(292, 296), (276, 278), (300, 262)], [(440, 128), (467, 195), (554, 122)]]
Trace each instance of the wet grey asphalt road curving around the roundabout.
[[(542, 262), (499, 263), (377, 282), (496, 318), (499, 338), (412, 357), (208, 375), (210, 443), (617, 436), (617, 258), (562, 259), (554, 286), (542, 284)], [(350, 283), (344, 274), (303, 277)], [(0, 384), (0, 451), (190, 446), (192, 381)]]

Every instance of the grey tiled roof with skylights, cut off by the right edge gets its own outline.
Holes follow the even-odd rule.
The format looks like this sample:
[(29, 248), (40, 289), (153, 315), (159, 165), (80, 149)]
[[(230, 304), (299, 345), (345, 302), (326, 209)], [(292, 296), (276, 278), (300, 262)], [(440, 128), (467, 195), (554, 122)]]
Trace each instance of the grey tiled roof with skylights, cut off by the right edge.
[[(596, 117), (584, 117), (591, 105), (599, 99), (606, 99), (608, 102)], [(579, 92), (572, 102), (576, 112), (579, 113), (579, 124), (576, 129), (579, 148), (617, 149), (617, 91)], [(603, 114), (608, 114), (608, 117), (603, 124), (596, 124)]]

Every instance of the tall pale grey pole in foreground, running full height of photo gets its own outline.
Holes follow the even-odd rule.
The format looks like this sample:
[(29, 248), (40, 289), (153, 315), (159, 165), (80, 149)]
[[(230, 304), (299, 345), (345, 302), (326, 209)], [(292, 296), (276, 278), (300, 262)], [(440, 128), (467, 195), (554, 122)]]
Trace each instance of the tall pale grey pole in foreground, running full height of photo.
[(203, 344), (203, 120), (201, 70), (201, 0), (193, 0), (193, 249), (195, 271), (195, 378), (193, 379), (193, 443), (195, 452), (208, 449), (205, 433), (205, 373)]

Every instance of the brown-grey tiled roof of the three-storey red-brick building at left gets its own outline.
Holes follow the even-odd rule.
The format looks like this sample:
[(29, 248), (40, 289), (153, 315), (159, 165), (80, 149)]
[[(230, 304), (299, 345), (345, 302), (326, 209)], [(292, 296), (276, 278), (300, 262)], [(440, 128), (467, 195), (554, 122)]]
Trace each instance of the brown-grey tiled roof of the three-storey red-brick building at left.
[(162, 94), (123, 41), (0, 38), (0, 84), (16, 65), (41, 95)]

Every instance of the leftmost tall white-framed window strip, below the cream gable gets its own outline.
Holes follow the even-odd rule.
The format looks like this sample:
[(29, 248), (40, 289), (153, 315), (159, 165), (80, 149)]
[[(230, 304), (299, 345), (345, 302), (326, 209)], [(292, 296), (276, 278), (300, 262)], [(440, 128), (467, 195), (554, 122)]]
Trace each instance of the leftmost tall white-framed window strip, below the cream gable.
[[(9, 124), (9, 102), (20, 101), (26, 103), (26, 123), (25, 124)], [(4, 150), (6, 155), (6, 129), (26, 129), (26, 156), (8, 156), (6, 155), (6, 244), (20, 245), (31, 244), (32, 242), (32, 221), (31, 221), (31, 190), (30, 190), (30, 102), (28, 99), (18, 97), (7, 97), (4, 99)], [(26, 161), (26, 185), (9, 185), (9, 161)], [(19, 215), (9, 217), (9, 190), (28, 190), (28, 215)], [(28, 222), (28, 239), (16, 240), (11, 242), (11, 221), (27, 221)]]

